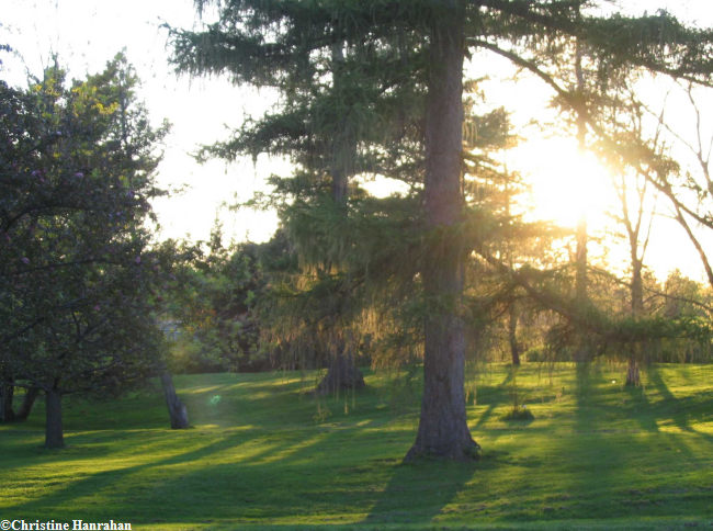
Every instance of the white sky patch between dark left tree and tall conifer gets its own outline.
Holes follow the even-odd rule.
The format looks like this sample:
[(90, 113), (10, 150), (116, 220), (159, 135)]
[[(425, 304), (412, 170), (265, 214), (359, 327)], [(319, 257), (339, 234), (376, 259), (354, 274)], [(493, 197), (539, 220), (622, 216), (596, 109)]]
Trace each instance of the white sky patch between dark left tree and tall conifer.
[[(191, 0), (2, 0), (0, 43), (10, 44), (21, 56), (3, 56), (5, 80), (23, 84), (25, 71), (39, 75), (50, 53), (59, 54), (70, 76), (101, 71), (106, 60), (126, 49), (137, 70), (144, 100), (152, 120), (172, 123), (165, 159), (159, 168), (160, 185), (190, 188), (162, 199), (155, 210), (162, 237), (207, 239), (216, 214), (226, 234), (237, 240), (267, 240), (276, 227), (272, 213), (228, 212), (222, 203), (246, 201), (260, 189), (263, 176), (280, 171), (280, 161), (260, 159), (226, 166), (220, 161), (197, 165), (190, 156), (200, 144), (225, 138), (225, 125), (240, 124), (244, 110), (268, 108), (268, 94), (238, 91), (219, 79), (177, 78), (168, 65), (167, 33), (162, 22), (191, 27), (195, 10)], [(26, 66), (26, 67), (25, 67)], [(268, 95), (265, 98), (265, 95)]]

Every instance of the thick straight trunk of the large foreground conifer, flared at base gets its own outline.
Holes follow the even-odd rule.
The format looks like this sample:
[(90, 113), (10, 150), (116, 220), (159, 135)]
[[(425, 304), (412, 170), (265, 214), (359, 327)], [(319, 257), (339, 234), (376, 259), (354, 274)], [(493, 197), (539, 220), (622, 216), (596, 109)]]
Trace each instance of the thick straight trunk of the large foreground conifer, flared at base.
[[(446, 0), (433, 18), (426, 111), (426, 218), (431, 229), (448, 228), (461, 218), (463, 127), (462, 2)], [(443, 13), (443, 14), (441, 14)], [(472, 459), (478, 445), (471, 437), (463, 389), (465, 330), (460, 316), (464, 256), (446, 241), (431, 249), (422, 271), (433, 308), (426, 318), (423, 398), (418, 434), (407, 460), (420, 455)]]

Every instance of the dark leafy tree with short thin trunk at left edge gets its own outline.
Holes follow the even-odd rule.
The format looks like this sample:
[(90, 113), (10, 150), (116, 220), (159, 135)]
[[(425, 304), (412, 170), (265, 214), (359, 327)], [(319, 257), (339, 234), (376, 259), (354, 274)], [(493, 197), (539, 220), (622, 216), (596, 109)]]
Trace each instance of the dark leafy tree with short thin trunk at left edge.
[(145, 223), (166, 126), (151, 128), (136, 83), (120, 54), (71, 84), (55, 65), (25, 91), (0, 86), (0, 365), (45, 393), (49, 448), (64, 444), (64, 394), (120, 391), (161, 355)]

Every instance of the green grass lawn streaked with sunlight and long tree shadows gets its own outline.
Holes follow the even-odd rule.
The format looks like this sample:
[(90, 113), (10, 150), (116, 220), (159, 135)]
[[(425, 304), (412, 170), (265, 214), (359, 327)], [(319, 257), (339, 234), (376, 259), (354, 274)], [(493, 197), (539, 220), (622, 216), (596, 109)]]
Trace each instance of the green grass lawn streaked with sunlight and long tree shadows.
[(486, 365), (468, 386), (476, 463), (401, 464), (418, 387), (367, 374), (318, 399), (314, 374), (177, 376), (193, 428), (171, 431), (160, 388), (65, 400), (49, 451), (42, 404), (0, 426), (0, 519), (133, 529), (689, 529), (713, 526), (713, 365)]

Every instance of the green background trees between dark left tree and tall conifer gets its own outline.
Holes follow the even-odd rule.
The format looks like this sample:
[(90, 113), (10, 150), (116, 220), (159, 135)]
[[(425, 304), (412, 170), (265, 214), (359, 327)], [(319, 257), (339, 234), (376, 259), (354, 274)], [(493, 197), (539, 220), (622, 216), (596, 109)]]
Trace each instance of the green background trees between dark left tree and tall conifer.
[(191, 260), (163, 290), (163, 320), (172, 329), (170, 366), (174, 372), (264, 371), (282, 368), (275, 352), (261, 347), (262, 308), (271, 280), (296, 267), (283, 233), (265, 244), (223, 245), (219, 225), (207, 249), (183, 252)]

